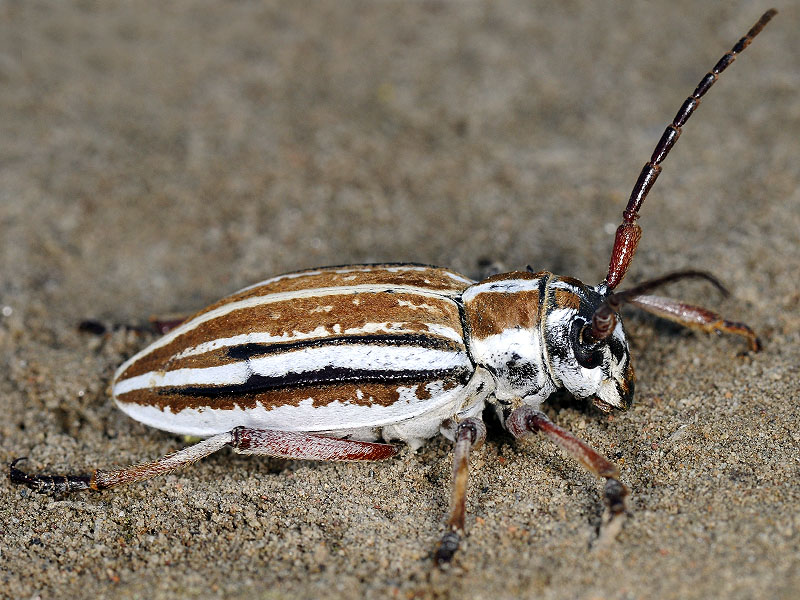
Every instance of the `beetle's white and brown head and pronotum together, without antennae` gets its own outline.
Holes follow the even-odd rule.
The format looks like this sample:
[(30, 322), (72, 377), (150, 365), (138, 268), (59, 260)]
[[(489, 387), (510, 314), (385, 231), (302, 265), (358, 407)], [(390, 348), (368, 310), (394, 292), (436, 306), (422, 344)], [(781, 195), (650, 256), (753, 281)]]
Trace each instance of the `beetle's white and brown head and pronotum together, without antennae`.
[(547, 271), (503, 273), (467, 289), (470, 353), (492, 373), (495, 398), (537, 405), (564, 387), (602, 410), (628, 408), (634, 376), (622, 324), (599, 341), (584, 335), (605, 297), (604, 288)]

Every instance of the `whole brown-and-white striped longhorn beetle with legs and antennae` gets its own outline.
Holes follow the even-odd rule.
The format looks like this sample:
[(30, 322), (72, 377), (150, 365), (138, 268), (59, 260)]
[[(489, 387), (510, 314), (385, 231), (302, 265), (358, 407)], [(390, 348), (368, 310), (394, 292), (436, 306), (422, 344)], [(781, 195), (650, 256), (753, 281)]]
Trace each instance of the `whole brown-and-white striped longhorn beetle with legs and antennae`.
[(769, 10), (706, 74), (681, 106), (633, 188), (605, 279), (596, 286), (532, 270), (473, 281), (415, 264), (327, 267), (274, 277), (195, 314), (116, 372), (120, 409), (147, 425), (206, 438), (154, 462), (85, 475), (30, 475), (39, 492), (101, 490), (169, 473), (225, 446), (243, 454), (379, 460), (389, 443), (418, 447), (441, 432), (455, 442), (447, 532), (435, 558), (449, 561), (464, 529), (470, 451), (493, 407), (515, 437), (543, 433), (606, 480), (606, 537), (625, 514), (617, 467), (540, 411), (565, 389), (603, 411), (630, 406), (634, 373), (619, 316), (624, 304), (706, 332), (755, 333), (707, 309), (651, 295), (705, 279), (671, 273), (616, 292), (641, 238), (638, 212), (681, 128), (719, 74), (775, 15)]

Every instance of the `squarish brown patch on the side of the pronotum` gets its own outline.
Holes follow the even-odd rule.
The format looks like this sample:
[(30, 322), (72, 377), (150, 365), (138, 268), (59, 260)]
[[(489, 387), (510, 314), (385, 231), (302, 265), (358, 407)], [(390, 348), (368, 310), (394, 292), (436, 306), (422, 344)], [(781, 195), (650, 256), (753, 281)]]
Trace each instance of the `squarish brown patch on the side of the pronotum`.
[(483, 292), (465, 303), (470, 334), (484, 339), (506, 329), (535, 329), (539, 323), (539, 292)]

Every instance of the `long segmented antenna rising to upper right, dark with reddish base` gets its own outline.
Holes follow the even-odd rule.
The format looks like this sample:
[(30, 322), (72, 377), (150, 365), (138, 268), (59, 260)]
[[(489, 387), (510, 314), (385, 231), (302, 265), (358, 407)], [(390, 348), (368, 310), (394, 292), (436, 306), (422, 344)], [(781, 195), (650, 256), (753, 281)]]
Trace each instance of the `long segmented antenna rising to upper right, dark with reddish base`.
[(647, 198), (647, 194), (650, 193), (650, 189), (656, 182), (659, 173), (661, 173), (661, 163), (664, 162), (664, 159), (667, 157), (670, 150), (672, 150), (675, 142), (678, 141), (681, 135), (681, 128), (686, 121), (689, 120), (689, 117), (692, 116), (694, 111), (697, 110), (697, 107), (700, 105), (700, 99), (708, 92), (711, 86), (714, 85), (720, 73), (736, 60), (737, 56), (750, 45), (754, 37), (761, 33), (761, 30), (764, 29), (766, 24), (769, 23), (770, 19), (772, 19), (777, 12), (777, 10), (771, 8), (761, 15), (761, 18), (750, 28), (747, 35), (736, 42), (730, 52), (720, 58), (717, 64), (714, 65), (714, 68), (706, 73), (700, 80), (700, 83), (697, 84), (692, 95), (686, 98), (681, 105), (672, 123), (667, 125), (661, 139), (658, 141), (658, 144), (656, 144), (650, 161), (642, 168), (639, 179), (636, 180), (636, 185), (633, 186), (628, 205), (622, 213), (622, 223), (617, 228), (617, 233), (614, 238), (614, 248), (611, 251), (611, 260), (608, 264), (608, 274), (603, 282), (609, 290), (616, 288), (622, 281), (622, 278), (625, 277), (625, 273), (627, 273), (628, 267), (631, 264), (631, 259), (636, 253), (636, 247), (639, 245), (639, 240), (642, 237), (642, 228), (636, 223), (636, 219), (639, 218), (639, 209), (642, 207), (644, 199)]

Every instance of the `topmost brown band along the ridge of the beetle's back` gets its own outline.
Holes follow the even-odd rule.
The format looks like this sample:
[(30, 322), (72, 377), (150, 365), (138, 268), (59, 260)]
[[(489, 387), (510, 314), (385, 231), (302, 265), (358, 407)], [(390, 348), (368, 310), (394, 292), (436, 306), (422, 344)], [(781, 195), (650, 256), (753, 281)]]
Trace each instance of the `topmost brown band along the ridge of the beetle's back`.
[[(237, 292), (212, 304), (202, 312), (208, 312), (228, 302), (236, 302), (246, 298), (321, 287), (348, 285), (410, 285), (432, 292), (457, 295), (470, 285), (470, 282), (459, 281), (447, 275), (451, 273), (457, 277), (463, 277), (463, 275), (459, 275), (448, 269), (421, 266), (411, 267), (409, 270), (406, 270), (406, 268), (407, 267), (403, 267), (402, 265), (354, 265), (315, 269), (309, 271), (308, 274), (300, 274), (299, 276), (294, 274), (292, 277), (278, 279), (277, 281), (265, 285), (258, 285), (242, 290), (241, 292)], [(466, 277), (463, 278), (467, 279)]]

